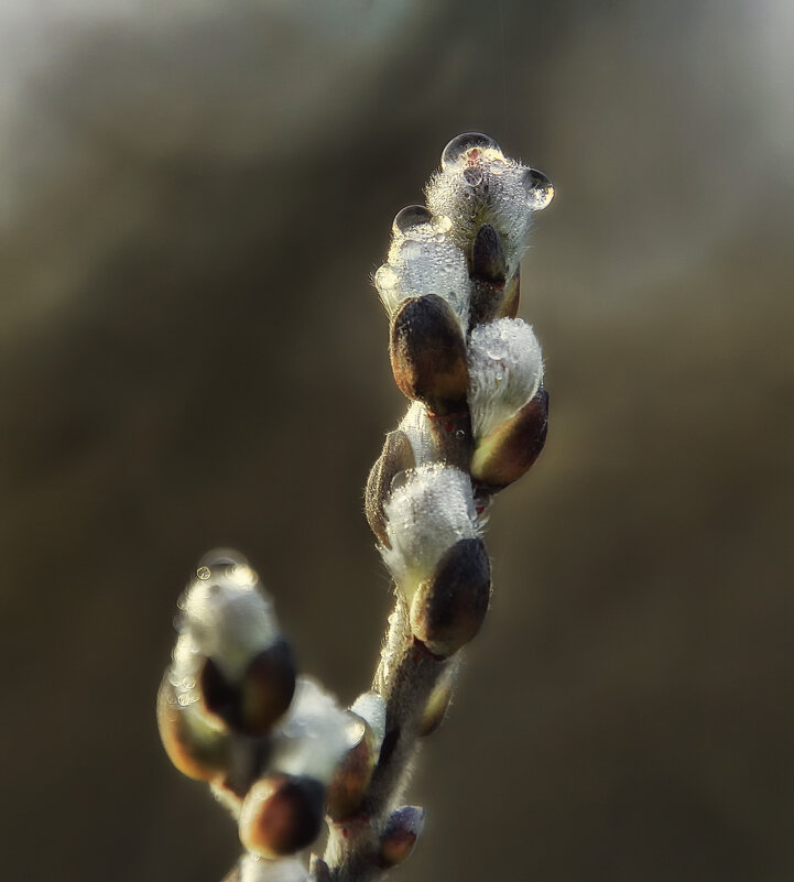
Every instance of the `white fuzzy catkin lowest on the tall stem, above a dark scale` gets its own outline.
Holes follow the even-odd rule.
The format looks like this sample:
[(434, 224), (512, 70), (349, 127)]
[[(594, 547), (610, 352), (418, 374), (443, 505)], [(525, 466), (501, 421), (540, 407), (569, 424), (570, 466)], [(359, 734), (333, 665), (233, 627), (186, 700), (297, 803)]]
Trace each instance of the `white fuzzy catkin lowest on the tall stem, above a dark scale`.
[(429, 578), (458, 540), (478, 535), (471, 481), (453, 466), (434, 464), (405, 472), (405, 483), (384, 507), (390, 548), (381, 547), (406, 600)]

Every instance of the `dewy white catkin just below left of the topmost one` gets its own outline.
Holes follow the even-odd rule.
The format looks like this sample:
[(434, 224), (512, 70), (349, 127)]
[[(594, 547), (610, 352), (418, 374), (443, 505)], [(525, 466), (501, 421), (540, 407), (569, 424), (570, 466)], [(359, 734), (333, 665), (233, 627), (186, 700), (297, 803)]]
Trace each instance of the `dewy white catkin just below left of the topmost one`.
[(452, 224), (434, 217), (406, 232), (395, 230), (388, 263), (374, 275), (374, 284), (389, 315), (407, 297), (437, 294), (445, 300), (466, 330), (469, 319), (469, 275), (466, 258), (447, 236)]

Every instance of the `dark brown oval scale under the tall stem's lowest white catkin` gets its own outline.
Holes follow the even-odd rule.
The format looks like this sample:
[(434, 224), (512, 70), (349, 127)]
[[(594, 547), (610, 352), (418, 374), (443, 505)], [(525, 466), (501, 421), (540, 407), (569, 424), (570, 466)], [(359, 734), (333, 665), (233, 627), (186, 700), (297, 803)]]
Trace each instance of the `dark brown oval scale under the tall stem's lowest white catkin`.
[(480, 630), (490, 597), (491, 566), (482, 540), (460, 540), (416, 590), (411, 631), (432, 653), (447, 657)]

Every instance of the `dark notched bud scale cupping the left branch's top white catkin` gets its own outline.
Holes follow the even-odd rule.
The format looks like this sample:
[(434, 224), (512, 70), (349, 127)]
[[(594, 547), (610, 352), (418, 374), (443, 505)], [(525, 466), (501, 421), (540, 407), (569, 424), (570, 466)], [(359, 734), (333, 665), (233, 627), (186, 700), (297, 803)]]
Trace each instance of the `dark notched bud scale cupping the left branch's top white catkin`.
[(290, 707), (295, 693), (295, 663), (284, 638), (253, 656), (239, 683), (230, 683), (207, 658), (202, 669), (206, 709), (230, 729), (247, 736), (267, 734)]

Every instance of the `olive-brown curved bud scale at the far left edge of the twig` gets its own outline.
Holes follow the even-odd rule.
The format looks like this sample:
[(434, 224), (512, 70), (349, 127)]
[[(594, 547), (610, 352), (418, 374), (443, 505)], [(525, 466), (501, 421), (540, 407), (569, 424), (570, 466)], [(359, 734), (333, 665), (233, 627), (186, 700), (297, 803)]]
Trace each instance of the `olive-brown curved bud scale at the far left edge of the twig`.
[(200, 704), (180, 704), (166, 673), (157, 693), (157, 727), (171, 762), (187, 777), (216, 781), (228, 772), (230, 738), (203, 717)]

